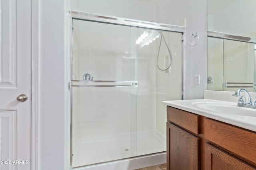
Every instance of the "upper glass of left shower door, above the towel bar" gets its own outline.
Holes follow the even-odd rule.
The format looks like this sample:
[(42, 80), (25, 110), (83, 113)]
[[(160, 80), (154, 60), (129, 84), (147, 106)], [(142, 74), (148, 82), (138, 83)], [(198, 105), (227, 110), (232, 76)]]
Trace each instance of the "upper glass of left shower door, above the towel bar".
[(73, 20), (73, 80), (136, 80), (136, 28)]

